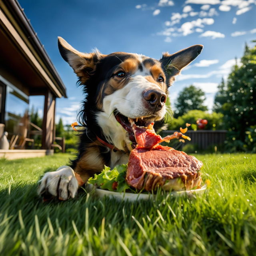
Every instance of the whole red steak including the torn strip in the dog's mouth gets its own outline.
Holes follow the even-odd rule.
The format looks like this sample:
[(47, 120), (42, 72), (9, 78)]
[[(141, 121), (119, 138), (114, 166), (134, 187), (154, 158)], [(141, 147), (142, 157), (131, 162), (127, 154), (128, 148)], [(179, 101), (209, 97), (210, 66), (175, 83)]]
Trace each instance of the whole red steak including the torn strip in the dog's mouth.
[[(200, 185), (202, 162), (185, 152), (158, 145), (161, 141), (180, 138), (181, 133), (161, 138), (154, 130), (133, 127), (137, 147), (131, 151), (126, 182), (134, 188), (152, 190), (191, 189)], [(181, 135), (180, 135), (181, 134)]]

